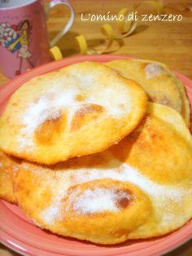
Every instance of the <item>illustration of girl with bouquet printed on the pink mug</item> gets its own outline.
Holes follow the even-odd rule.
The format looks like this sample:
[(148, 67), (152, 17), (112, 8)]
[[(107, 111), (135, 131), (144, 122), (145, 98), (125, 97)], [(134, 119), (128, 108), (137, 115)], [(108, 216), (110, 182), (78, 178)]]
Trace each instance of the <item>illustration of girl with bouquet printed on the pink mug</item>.
[(22, 20), (17, 25), (11, 25), (8, 22), (0, 24), (0, 45), (13, 54), (17, 53), (17, 58), (20, 58), (20, 66), (15, 71), (15, 75), (20, 75), (24, 60), (28, 61), (28, 64), (33, 68), (33, 63), (30, 60), (32, 53), (28, 50), (31, 42), (31, 29), (32, 24), (29, 20)]

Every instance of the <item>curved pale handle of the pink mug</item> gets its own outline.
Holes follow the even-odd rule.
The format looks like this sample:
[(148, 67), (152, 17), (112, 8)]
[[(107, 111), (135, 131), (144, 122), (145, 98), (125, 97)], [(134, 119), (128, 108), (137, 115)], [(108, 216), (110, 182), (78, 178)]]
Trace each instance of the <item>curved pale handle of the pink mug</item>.
[(71, 16), (70, 16), (70, 19), (68, 20), (68, 24), (64, 27), (64, 29), (62, 29), (56, 36), (55, 38), (53, 38), (50, 42), (50, 47), (53, 47), (55, 46), (55, 44), (59, 41), (60, 38), (63, 37), (63, 35), (65, 33), (68, 32), (69, 29), (71, 29), (72, 27), (72, 24), (75, 20), (75, 11), (72, 7), (72, 5), (68, 2), (68, 0), (51, 0), (50, 1), (50, 6), (48, 7), (48, 10), (47, 12), (49, 13), (50, 10), (56, 6), (58, 6), (59, 4), (63, 4), (65, 6), (67, 6), (69, 8), (69, 10), (71, 11)]

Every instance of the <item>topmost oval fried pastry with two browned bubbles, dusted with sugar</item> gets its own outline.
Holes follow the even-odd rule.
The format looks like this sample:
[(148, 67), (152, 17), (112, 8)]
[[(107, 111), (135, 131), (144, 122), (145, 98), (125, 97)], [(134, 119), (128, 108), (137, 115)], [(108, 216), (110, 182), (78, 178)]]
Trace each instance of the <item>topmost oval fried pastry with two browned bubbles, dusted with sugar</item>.
[(0, 148), (55, 164), (102, 152), (128, 135), (146, 113), (136, 82), (103, 64), (74, 64), (26, 82), (0, 120)]

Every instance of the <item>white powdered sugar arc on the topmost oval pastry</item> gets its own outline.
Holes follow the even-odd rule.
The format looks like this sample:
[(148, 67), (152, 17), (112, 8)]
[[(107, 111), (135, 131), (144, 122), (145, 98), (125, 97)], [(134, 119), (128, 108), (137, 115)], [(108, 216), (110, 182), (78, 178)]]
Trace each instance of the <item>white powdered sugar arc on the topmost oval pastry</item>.
[[(88, 78), (86, 78), (88, 79)], [(19, 144), (18, 150), (30, 151), (33, 149), (33, 133), (41, 124), (46, 120), (50, 120), (51, 117), (55, 117), (57, 113), (67, 114), (67, 130), (70, 130), (72, 118), (76, 112), (81, 109), (85, 104), (97, 104), (104, 108), (104, 116), (111, 116), (114, 118), (121, 118), (131, 111), (132, 103), (131, 99), (128, 101), (129, 88), (122, 86), (121, 93), (116, 93), (116, 88), (105, 88), (103, 84), (97, 84), (94, 86), (87, 86), (87, 80), (82, 80), (82, 84), (69, 79), (67, 86), (63, 86), (63, 80), (53, 80), (53, 88), (44, 91), (41, 95), (34, 100), (34, 102), (28, 103), (24, 113), (20, 114), (20, 125), (23, 128), (20, 130), (20, 134), (17, 137)], [(84, 83), (83, 83), (84, 81)], [(88, 79), (89, 81), (89, 79)], [(93, 83), (93, 81), (92, 81)], [(82, 88), (86, 86), (85, 88)], [(76, 99), (77, 95), (81, 95), (84, 92), (84, 99), (79, 101)], [(113, 103), (113, 104), (111, 104)]]

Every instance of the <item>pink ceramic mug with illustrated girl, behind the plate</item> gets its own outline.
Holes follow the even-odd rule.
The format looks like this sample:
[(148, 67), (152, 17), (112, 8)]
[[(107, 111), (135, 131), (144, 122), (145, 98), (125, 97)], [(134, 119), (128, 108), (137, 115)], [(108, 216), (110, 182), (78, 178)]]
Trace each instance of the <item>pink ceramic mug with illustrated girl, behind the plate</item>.
[[(47, 13), (63, 4), (71, 11), (68, 24), (49, 42)], [(28, 68), (50, 61), (49, 49), (72, 27), (75, 12), (68, 0), (51, 0), (48, 10), (43, 0), (0, 0), (0, 68), (14, 77)]]

